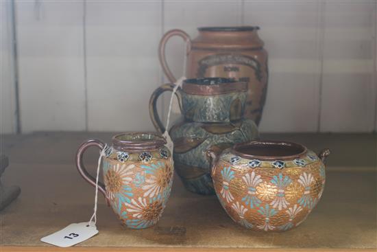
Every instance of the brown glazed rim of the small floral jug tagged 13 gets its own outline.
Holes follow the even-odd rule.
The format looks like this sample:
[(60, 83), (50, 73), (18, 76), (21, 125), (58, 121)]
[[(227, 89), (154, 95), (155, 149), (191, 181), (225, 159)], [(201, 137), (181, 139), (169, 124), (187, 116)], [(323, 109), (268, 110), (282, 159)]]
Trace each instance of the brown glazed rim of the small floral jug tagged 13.
[[(134, 135), (136, 136), (142, 136), (142, 135), (149, 135), (151, 139), (130, 139), (130, 140), (125, 140), (125, 139), (119, 139), (122, 136), (131, 136)], [(124, 133), (119, 133), (117, 135), (114, 135), (112, 137), (112, 145), (116, 150), (151, 150), (151, 149), (156, 149), (160, 148), (167, 144), (167, 141), (165, 140), (162, 135), (159, 135), (158, 133), (154, 132), (134, 132), (134, 131), (129, 131), (129, 132), (124, 132)]]

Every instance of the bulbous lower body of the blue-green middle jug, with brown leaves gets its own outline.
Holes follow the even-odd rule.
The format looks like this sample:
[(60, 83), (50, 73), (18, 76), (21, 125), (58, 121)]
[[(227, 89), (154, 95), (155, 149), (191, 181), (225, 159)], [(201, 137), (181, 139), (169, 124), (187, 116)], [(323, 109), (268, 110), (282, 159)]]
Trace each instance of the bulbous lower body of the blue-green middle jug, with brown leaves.
[(229, 124), (183, 122), (170, 130), (174, 142), (174, 166), (184, 186), (190, 192), (215, 194), (210, 177), (206, 151), (221, 152), (235, 143), (258, 137), (256, 125), (250, 119)]

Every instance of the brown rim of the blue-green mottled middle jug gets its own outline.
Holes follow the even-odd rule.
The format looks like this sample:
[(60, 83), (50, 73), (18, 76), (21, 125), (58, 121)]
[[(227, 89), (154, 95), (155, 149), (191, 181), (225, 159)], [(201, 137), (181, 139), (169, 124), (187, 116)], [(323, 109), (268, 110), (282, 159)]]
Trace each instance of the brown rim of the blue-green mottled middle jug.
[[(201, 83), (205, 80), (219, 81), (219, 83)], [(191, 95), (220, 95), (232, 92), (246, 92), (247, 82), (240, 82), (230, 78), (190, 78), (183, 81), (182, 90), (184, 93)]]

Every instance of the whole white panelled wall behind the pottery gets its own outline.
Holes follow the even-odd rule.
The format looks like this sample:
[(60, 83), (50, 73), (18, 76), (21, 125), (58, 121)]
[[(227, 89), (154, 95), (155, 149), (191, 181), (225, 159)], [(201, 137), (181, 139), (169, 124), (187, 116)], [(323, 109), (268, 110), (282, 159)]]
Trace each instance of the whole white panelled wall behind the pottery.
[[(269, 51), (262, 132), (377, 130), (376, 1), (1, 1), (1, 133), (153, 130), (149, 95), (173, 28), (258, 25)], [(184, 45), (167, 59), (182, 75)], [(18, 79), (18, 80), (17, 80)], [(17, 92), (15, 82), (18, 82)], [(17, 102), (18, 93), (18, 102)], [(166, 117), (167, 100), (160, 102)], [(165, 109), (163, 109), (165, 108)]]

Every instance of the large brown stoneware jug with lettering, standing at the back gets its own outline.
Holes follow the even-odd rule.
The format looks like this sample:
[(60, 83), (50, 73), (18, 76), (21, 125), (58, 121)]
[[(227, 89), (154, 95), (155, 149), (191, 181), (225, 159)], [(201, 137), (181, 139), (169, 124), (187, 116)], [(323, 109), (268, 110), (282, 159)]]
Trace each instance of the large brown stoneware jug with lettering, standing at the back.
[(186, 41), (186, 78), (225, 77), (247, 82), (245, 117), (259, 124), (267, 93), (267, 51), (259, 27), (199, 27), (191, 40), (182, 30), (167, 32), (160, 41), (159, 58), (170, 82), (176, 79), (165, 59), (165, 45), (172, 36)]

